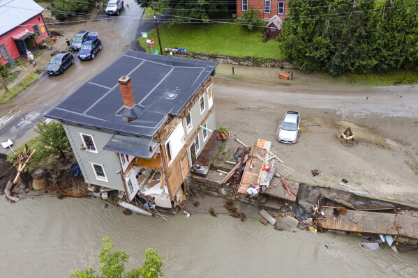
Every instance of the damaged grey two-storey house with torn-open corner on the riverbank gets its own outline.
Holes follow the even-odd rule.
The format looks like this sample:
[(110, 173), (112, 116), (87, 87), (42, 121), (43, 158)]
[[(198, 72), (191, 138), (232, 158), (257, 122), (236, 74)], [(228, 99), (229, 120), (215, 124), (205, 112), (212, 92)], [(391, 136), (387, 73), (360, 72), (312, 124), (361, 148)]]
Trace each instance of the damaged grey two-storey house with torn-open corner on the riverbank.
[(127, 52), (46, 116), (61, 121), (89, 189), (176, 208), (215, 129), (217, 63)]

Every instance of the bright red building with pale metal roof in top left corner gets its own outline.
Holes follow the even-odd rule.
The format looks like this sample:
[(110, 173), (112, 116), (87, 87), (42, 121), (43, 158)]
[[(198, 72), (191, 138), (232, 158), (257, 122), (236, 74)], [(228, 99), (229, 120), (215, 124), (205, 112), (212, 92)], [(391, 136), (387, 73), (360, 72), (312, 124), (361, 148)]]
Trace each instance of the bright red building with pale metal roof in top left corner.
[(0, 0), (0, 64), (6, 65), (48, 37), (41, 13), (33, 0)]

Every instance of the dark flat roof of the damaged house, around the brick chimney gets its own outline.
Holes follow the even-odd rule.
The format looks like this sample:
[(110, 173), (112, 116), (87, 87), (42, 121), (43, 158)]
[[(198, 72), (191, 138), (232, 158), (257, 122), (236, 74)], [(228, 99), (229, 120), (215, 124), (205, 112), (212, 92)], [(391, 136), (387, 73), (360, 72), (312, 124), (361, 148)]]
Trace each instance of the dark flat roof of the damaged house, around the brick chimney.
[[(178, 115), (209, 75), (214, 75), (216, 65), (130, 51), (45, 116), (87, 128), (154, 137), (166, 118)], [(129, 122), (121, 113), (121, 76), (130, 77), (135, 102), (142, 108)]]

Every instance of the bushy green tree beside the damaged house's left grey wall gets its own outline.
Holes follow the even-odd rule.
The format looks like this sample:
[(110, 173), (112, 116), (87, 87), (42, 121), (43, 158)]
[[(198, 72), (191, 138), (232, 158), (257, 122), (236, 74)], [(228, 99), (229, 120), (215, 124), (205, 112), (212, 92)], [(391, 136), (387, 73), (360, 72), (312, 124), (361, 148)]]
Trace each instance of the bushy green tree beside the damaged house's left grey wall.
[(50, 123), (36, 123), (35, 131), (38, 132), (37, 151), (43, 156), (59, 153), (61, 157), (66, 158), (64, 150), (70, 150), (70, 141), (68, 141), (66, 132), (61, 123), (51, 121)]

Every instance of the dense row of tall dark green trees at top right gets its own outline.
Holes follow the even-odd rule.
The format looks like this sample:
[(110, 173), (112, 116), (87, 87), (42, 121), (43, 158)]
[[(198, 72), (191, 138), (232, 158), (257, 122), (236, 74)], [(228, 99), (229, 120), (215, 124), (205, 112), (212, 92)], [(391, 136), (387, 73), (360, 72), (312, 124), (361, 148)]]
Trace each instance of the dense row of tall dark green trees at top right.
[(418, 0), (290, 0), (278, 36), (301, 70), (371, 72), (418, 69)]

